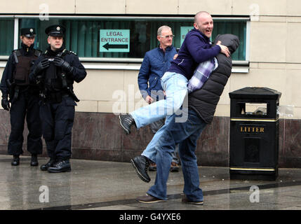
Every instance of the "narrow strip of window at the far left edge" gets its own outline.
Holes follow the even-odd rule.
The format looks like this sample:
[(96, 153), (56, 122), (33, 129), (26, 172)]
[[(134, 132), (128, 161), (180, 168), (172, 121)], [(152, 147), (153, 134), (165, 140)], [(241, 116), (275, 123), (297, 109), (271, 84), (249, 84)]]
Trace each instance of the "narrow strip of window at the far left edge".
[(0, 55), (11, 55), (14, 41), (14, 20), (0, 19)]

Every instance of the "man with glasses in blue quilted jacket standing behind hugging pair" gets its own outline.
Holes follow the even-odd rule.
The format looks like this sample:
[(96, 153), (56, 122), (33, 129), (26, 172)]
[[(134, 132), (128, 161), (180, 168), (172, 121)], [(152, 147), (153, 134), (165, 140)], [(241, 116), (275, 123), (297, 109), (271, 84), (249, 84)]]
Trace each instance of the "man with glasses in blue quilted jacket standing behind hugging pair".
[[(138, 85), (143, 99), (148, 104), (157, 100), (164, 99), (164, 93), (161, 85), (163, 74), (169, 69), (170, 62), (176, 58), (177, 51), (173, 46), (173, 31), (168, 26), (161, 26), (157, 31), (159, 46), (145, 53), (145, 58), (140, 67), (138, 74)], [(155, 134), (163, 125), (164, 120), (157, 120), (150, 124), (152, 132)], [(144, 151), (147, 158), (151, 158), (150, 151)], [(170, 171), (178, 172), (178, 158), (173, 152)], [(151, 163), (149, 170), (156, 170), (156, 164)]]

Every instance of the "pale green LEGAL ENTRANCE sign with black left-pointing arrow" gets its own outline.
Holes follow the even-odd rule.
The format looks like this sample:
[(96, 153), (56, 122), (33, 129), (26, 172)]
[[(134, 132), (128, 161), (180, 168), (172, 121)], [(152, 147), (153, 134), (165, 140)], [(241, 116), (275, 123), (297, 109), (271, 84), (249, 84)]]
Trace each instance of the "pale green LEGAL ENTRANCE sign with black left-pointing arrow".
[(100, 52), (130, 52), (130, 30), (100, 29)]

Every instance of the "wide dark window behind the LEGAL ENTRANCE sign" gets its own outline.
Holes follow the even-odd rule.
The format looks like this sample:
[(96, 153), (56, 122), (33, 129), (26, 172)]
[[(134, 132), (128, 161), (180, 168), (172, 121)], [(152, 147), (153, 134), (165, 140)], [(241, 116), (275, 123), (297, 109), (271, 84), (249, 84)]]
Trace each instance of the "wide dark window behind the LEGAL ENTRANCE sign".
[[(239, 36), (241, 45), (232, 58), (245, 61), (247, 20), (213, 19), (213, 39), (226, 33)], [(95, 58), (142, 58), (145, 52), (158, 45), (156, 31), (161, 25), (173, 29), (173, 45), (180, 48), (185, 34), (193, 26), (193, 18), (50, 18), (48, 21), (20, 18), (19, 21), (19, 29), (36, 27), (36, 48), (40, 50), (48, 46), (46, 27), (60, 24), (67, 29), (65, 45), (68, 50), (76, 52), (79, 57)]]

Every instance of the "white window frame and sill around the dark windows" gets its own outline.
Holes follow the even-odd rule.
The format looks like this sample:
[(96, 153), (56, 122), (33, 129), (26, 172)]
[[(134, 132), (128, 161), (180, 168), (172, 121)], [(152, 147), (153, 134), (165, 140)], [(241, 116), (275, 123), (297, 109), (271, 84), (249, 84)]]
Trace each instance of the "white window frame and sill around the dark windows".
[[(137, 15), (130, 15), (130, 16), (91, 16), (91, 15), (48, 15), (51, 19), (84, 19), (84, 20), (123, 20), (123, 19), (140, 19), (140, 20), (194, 20), (194, 16), (137, 16)], [(13, 18), (15, 20), (15, 27), (14, 27), (14, 49), (18, 48), (18, 41), (19, 41), (19, 19), (23, 18), (39, 18), (39, 15), (0, 15), (1, 18)], [(246, 60), (233, 60), (233, 68), (232, 72), (236, 73), (248, 73), (249, 69), (249, 52), (250, 52), (250, 17), (216, 17), (213, 15), (213, 21), (218, 20), (231, 20), (231, 21), (246, 21)], [(0, 55), (0, 60), (8, 59), (9, 56)], [(85, 65), (86, 69), (125, 69), (125, 70), (139, 70), (140, 65), (142, 63), (143, 58), (121, 58), (121, 57), (79, 57), (81, 62)], [(96, 64), (95, 64), (96, 63)], [(109, 63), (109, 64), (108, 64)], [(119, 63), (119, 64), (116, 64)], [(130, 63), (130, 64), (128, 64)], [(0, 63), (0, 67), (3, 64)]]

